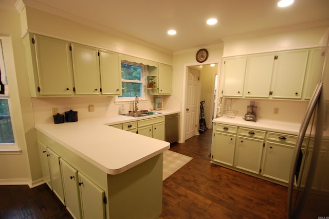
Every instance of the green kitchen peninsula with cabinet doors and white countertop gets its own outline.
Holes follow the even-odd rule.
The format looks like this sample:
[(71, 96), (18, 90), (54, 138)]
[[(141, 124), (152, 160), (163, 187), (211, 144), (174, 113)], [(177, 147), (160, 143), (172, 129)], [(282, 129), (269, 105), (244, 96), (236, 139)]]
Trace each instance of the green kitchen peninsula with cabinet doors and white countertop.
[[(109, 126), (138, 119), (118, 115), (35, 125), (44, 179), (72, 215), (159, 217), (162, 152), (170, 143)], [(48, 174), (43, 159), (50, 163)]]

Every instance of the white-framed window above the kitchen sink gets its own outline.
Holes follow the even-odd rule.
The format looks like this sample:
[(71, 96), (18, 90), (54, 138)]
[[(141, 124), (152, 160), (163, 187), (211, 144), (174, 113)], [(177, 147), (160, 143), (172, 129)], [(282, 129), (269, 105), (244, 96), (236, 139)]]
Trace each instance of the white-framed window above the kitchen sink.
[(140, 100), (146, 99), (145, 69), (142, 64), (121, 61), (122, 95), (117, 101), (132, 101), (136, 95)]

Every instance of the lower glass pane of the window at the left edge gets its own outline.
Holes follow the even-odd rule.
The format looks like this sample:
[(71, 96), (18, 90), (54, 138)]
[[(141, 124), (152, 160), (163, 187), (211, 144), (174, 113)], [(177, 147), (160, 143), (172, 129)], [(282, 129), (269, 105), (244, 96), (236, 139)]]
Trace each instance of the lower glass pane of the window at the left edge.
[(14, 143), (7, 99), (0, 99), (0, 144)]

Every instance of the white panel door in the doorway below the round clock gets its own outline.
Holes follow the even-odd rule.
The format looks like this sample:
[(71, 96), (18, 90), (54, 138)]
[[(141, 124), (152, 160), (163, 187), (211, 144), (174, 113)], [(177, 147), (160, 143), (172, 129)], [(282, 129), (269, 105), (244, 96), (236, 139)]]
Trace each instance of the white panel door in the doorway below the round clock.
[(197, 124), (197, 94), (199, 86), (199, 71), (189, 69), (188, 90), (186, 98), (185, 140), (196, 135)]

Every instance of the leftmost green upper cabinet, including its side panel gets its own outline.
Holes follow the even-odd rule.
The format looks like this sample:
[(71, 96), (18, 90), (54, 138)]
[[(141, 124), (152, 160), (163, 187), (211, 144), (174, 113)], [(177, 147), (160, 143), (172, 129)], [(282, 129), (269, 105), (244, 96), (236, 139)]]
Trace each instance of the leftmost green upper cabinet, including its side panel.
[(27, 34), (24, 43), (31, 96), (73, 95), (69, 42)]

